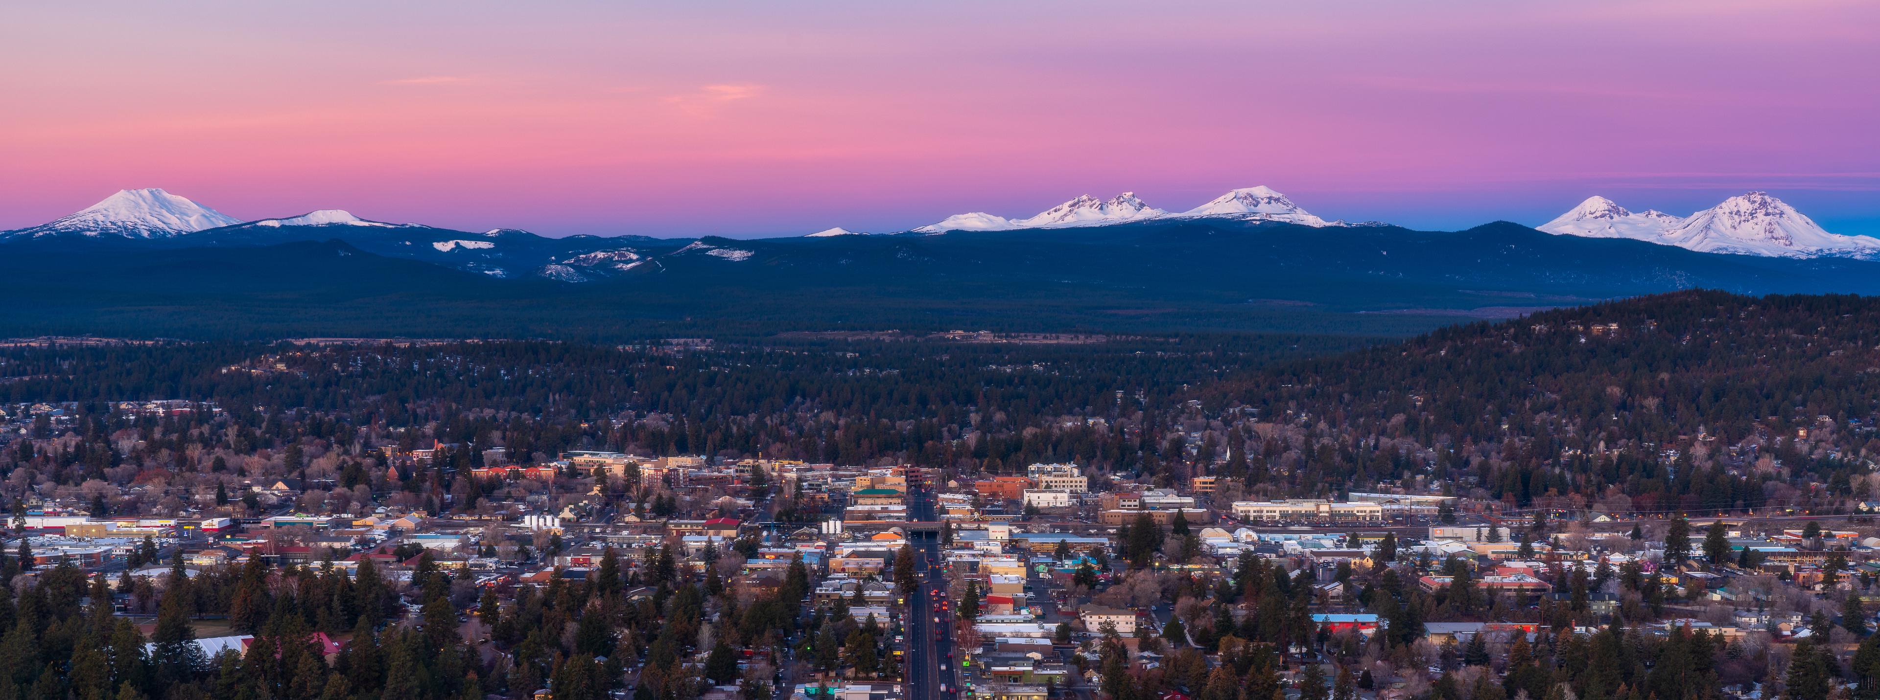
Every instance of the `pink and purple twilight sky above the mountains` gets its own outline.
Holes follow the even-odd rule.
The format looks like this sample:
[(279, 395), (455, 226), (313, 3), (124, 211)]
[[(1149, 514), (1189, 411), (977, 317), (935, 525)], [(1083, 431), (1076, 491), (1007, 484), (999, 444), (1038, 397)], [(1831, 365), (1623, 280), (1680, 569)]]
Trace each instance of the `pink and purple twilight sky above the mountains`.
[(0, 23), (0, 229), (122, 188), (543, 235), (899, 231), (1265, 184), (1880, 233), (1880, 4), (98, 2)]

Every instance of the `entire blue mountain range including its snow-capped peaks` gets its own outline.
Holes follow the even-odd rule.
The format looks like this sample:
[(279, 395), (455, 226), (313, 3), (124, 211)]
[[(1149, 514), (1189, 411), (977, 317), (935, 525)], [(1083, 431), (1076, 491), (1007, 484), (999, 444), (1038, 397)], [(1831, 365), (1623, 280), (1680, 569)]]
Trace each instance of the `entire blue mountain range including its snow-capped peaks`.
[(1077, 197), (1002, 221), (760, 240), (549, 238), (344, 210), (235, 221), (130, 190), (0, 233), (0, 295), (11, 302), (0, 334), (1402, 334), (1690, 287), (1880, 295), (1872, 238), (1827, 235), (1763, 193), (1688, 218), (1589, 199), (1545, 231), (1348, 225), (1269, 188), (1183, 212), (1128, 193)]

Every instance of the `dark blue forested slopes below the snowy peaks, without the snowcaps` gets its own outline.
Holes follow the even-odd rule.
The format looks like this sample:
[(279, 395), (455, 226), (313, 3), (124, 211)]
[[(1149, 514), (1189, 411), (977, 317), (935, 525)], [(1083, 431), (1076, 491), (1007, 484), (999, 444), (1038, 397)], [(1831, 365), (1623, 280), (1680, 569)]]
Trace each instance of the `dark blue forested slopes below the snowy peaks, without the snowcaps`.
[[(502, 259), (461, 257), (461, 246), (444, 251), (429, 238), (384, 238), (404, 229), (344, 229), (331, 233), (346, 236), (337, 240), (248, 246), (4, 244), (13, 272), (0, 278), (11, 300), (0, 336), (622, 342), (891, 328), (1408, 336), (1459, 319), (1692, 287), (1880, 293), (1874, 261), (1698, 253), (1513, 223), (1446, 233), (1151, 220), (936, 236), (707, 236), (696, 246), (639, 246), (630, 265), (607, 259), (605, 274), (556, 265), (587, 280), (579, 283), (496, 268)], [(504, 244), (496, 246), (478, 255)], [(399, 250), (425, 253), (391, 255)]]

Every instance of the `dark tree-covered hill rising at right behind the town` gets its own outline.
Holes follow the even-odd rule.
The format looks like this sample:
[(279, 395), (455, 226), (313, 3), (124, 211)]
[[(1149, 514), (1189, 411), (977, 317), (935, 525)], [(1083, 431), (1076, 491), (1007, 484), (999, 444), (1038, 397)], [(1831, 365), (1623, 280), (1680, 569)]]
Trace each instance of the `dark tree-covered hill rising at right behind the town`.
[[(1673, 293), (1305, 360), (1213, 388), (1250, 482), (1427, 479), (1512, 507), (1867, 497), (1880, 300)], [(1237, 467), (1239, 469), (1239, 467)], [(1818, 486), (1810, 486), (1818, 484)]]

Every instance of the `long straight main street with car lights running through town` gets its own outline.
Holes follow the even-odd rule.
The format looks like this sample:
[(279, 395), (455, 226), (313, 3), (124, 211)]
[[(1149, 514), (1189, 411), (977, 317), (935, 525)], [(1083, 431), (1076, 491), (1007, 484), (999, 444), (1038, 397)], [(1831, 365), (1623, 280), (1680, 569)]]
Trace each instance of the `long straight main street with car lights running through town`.
[[(934, 494), (908, 480), (910, 520), (934, 520)], [(908, 700), (951, 700), (959, 694), (953, 659), (953, 612), (940, 612), (936, 591), (946, 591), (940, 567), (940, 539), (936, 533), (908, 533), (914, 546), (914, 569), (921, 586), (908, 599)], [(938, 619), (938, 621), (936, 621)], [(942, 687), (946, 691), (942, 691)]]

